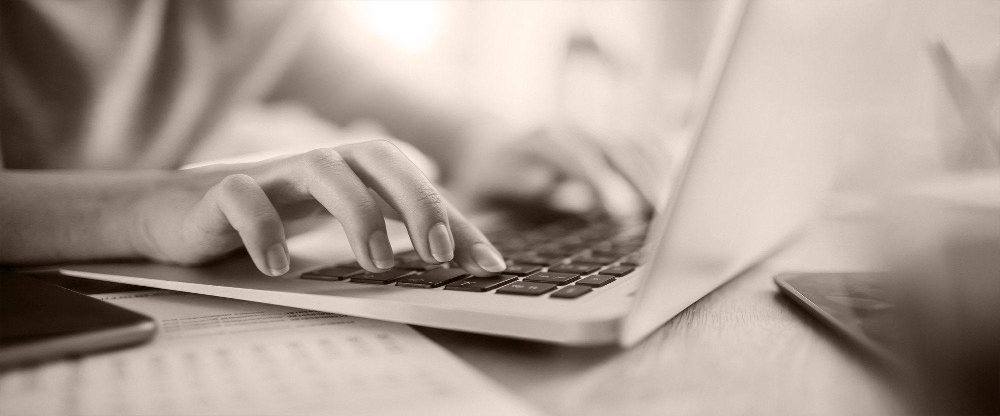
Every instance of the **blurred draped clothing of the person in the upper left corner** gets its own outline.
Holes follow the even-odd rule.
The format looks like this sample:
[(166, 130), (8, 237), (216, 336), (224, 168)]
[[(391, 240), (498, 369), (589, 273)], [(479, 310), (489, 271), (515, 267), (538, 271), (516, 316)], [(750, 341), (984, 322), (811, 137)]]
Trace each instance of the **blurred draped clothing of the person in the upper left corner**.
[(179, 167), (298, 52), (315, 2), (0, 1), (5, 168)]

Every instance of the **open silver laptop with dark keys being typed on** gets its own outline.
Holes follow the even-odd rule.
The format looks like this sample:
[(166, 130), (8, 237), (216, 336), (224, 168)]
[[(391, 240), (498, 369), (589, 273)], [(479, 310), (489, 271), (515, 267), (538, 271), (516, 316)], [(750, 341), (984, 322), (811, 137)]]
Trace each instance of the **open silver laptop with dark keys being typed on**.
[[(81, 264), (62, 273), (317, 311), (574, 346), (631, 346), (780, 247), (821, 205), (833, 139), (799, 113), (814, 82), (801, 42), (774, 30), (782, 3), (723, 3), (700, 74), (692, 144), (646, 227), (555, 222), (503, 227), (500, 277), (419, 264), (372, 274), (350, 263), (335, 223), (289, 240), (291, 270), (248, 257), (205, 267)], [(804, 47), (804, 46), (801, 46)], [(812, 101), (810, 101), (812, 100)], [(394, 246), (405, 229), (390, 224)], [(514, 250), (515, 252), (512, 252)], [(520, 250), (520, 251), (517, 251)], [(408, 257), (409, 256), (409, 257)]]

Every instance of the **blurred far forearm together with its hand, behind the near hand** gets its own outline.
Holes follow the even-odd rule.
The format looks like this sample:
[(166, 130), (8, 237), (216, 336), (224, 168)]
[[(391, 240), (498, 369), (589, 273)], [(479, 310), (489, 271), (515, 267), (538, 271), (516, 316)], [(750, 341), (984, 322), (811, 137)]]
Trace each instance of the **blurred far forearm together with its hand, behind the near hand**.
[[(419, 75), (415, 78), (424, 82), (404, 82), (393, 73), (399, 68), (387, 68), (389, 62), (340, 41), (338, 36), (361, 30), (342, 26), (320, 26), (312, 33), (272, 99), (305, 103), (340, 124), (378, 121), (434, 159), (441, 183), (467, 208), (496, 199), (551, 203), (565, 195), (591, 201), (580, 210), (603, 210), (620, 219), (642, 214), (643, 202), (609, 164), (602, 141), (563, 128), (515, 132), (464, 99), (454, 83)], [(579, 192), (562, 189), (582, 189), (592, 197), (576, 198)], [(559, 205), (566, 204), (550, 204)]]

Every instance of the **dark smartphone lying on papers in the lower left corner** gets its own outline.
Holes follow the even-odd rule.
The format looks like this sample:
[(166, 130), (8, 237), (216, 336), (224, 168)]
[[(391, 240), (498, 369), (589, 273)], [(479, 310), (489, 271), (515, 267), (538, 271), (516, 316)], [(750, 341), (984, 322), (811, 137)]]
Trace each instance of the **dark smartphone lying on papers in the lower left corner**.
[(145, 315), (0, 269), (0, 367), (140, 344), (155, 333)]

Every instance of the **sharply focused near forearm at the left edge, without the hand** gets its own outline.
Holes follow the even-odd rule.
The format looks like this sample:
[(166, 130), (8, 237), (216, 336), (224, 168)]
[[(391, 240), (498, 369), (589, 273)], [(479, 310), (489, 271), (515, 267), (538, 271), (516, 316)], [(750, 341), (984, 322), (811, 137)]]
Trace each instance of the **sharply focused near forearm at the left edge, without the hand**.
[(0, 263), (132, 258), (139, 201), (169, 171), (0, 171)]

